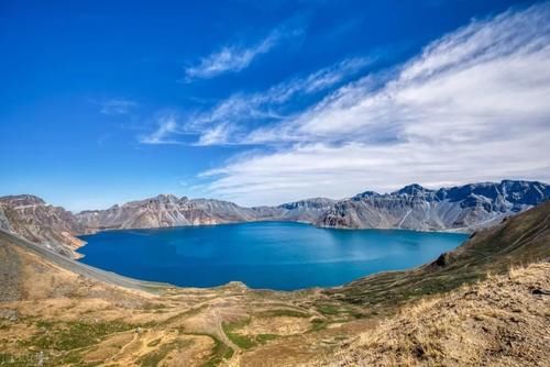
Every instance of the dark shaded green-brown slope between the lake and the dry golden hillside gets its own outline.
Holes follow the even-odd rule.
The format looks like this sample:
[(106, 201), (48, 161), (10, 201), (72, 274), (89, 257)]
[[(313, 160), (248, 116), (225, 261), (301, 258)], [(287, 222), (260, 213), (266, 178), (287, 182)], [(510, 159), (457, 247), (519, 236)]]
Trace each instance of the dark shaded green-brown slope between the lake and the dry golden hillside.
[(345, 302), (367, 305), (370, 313), (385, 313), (405, 301), (452, 290), (550, 257), (550, 201), (498, 226), (475, 233), (455, 251), (422, 267), (382, 273), (329, 289), (324, 293)]

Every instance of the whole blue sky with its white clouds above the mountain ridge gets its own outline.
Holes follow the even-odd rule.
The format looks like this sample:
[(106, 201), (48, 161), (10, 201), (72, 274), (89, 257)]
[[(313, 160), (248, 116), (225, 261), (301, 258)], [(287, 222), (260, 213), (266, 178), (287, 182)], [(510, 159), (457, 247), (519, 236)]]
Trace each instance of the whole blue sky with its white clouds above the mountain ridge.
[(548, 181), (549, 24), (534, 1), (2, 1), (0, 194)]

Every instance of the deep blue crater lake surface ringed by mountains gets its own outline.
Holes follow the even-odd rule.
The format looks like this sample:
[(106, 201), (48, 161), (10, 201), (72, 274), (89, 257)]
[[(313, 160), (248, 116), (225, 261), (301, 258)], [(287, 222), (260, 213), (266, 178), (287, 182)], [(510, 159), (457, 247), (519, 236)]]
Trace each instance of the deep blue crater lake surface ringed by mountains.
[(183, 287), (240, 280), (251, 288), (340, 286), (415, 267), (468, 236), (402, 230), (328, 230), (290, 222), (107, 231), (81, 236), (81, 263)]

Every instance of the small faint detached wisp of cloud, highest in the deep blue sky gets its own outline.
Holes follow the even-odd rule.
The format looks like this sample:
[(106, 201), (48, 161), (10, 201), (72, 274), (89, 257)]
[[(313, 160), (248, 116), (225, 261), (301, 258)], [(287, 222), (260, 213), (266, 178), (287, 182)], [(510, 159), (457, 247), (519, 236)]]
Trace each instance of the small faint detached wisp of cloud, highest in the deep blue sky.
[(190, 82), (194, 79), (210, 79), (226, 73), (241, 71), (249, 67), (257, 56), (270, 52), (283, 40), (299, 34), (301, 34), (301, 30), (278, 27), (253, 45), (224, 45), (217, 52), (200, 59), (197, 65), (187, 67), (185, 69), (184, 81)]

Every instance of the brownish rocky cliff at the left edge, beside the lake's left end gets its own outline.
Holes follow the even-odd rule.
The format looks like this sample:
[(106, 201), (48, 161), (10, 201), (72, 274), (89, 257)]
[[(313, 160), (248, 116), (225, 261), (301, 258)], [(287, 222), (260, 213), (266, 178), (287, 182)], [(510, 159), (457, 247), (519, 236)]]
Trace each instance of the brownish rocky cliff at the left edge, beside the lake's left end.
[(78, 257), (84, 242), (75, 235), (86, 231), (73, 213), (31, 194), (0, 198), (0, 229), (68, 257)]

